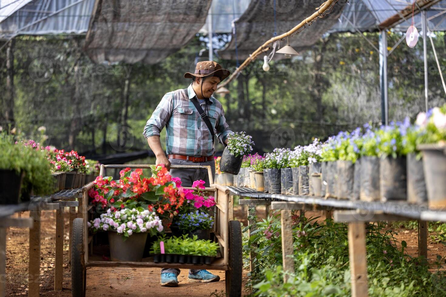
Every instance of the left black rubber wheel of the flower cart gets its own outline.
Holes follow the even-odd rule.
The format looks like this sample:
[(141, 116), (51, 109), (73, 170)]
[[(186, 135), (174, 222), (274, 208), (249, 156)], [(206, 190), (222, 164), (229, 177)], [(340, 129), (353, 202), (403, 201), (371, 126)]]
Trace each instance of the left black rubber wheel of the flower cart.
[(71, 246), (71, 296), (85, 297), (87, 269), (84, 263), (84, 222), (81, 218), (73, 220), (73, 241)]

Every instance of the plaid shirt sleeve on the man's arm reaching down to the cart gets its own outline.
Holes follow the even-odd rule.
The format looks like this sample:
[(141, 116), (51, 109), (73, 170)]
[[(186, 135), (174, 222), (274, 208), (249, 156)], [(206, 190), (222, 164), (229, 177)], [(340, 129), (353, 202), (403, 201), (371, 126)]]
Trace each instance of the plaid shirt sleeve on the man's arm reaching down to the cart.
[(161, 99), (152, 116), (149, 118), (144, 127), (143, 135), (145, 138), (154, 135), (160, 135), (161, 130), (169, 122), (173, 110), (173, 94), (167, 93)]

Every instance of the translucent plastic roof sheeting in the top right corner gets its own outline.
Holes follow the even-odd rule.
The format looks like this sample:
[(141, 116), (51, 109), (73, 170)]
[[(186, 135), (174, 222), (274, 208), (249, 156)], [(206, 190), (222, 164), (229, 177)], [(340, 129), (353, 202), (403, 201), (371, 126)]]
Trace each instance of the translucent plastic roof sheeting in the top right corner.
[[(421, 1), (417, 3), (429, 4), (434, 2), (426, 10), (428, 25), (430, 30), (446, 30), (446, 1)], [(392, 28), (397, 31), (406, 32), (412, 24), (412, 0), (350, 0), (344, 8), (339, 22), (329, 30), (329, 32), (365, 32), (378, 31), (388, 28), (392, 21), (392, 16), (401, 18), (401, 21), (392, 24)], [(409, 15), (401, 13), (407, 9)], [(421, 14), (416, 10), (413, 18), (415, 26), (421, 29)], [(404, 17), (403, 17), (404, 16)]]

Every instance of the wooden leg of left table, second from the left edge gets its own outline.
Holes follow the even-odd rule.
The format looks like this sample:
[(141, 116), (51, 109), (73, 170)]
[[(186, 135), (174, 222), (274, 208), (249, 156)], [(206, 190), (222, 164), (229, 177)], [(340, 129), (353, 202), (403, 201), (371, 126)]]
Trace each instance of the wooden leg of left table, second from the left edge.
[(38, 297), (40, 291), (40, 211), (30, 211), (33, 227), (29, 228), (28, 296)]

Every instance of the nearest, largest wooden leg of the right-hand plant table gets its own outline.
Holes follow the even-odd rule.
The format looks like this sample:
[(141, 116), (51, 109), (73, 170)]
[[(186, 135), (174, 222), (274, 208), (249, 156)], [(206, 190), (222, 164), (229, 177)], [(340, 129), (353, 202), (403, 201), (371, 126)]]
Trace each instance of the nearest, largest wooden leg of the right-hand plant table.
[(364, 223), (348, 224), (348, 252), (350, 256), (351, 296), (367, 297), (367, 255)]

